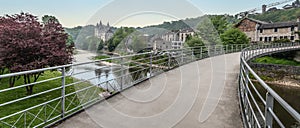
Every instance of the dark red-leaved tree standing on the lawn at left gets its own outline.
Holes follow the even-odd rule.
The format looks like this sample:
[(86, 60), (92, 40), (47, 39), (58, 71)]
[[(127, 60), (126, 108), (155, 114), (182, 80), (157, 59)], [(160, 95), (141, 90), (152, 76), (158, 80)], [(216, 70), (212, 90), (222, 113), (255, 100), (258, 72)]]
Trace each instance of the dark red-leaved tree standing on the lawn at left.
[[(68, 64), (73, 50), (66, 46), (67, 37), (56, 20), (41, 24), (36, 16), (28, 13), (0, 17), (0, 68), (13, 73)], [(24, 84), (36, 82), (41, 74), (23, 75)], [(10, 78), (11, 87), (16, 79)], [(32, 94), (33, 85), (26, 90)]]

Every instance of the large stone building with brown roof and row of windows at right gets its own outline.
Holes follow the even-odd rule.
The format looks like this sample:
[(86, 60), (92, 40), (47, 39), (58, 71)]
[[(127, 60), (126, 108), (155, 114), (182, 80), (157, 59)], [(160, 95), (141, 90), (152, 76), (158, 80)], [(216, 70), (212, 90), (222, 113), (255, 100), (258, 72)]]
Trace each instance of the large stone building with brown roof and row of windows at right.
[(251, 42), (270, 42), (278, 39), (299, 40), (295, 31), (299, 29), (297, 22), (268, 23), (251, 18), (244, 18), (236, 28), (243, 31)]

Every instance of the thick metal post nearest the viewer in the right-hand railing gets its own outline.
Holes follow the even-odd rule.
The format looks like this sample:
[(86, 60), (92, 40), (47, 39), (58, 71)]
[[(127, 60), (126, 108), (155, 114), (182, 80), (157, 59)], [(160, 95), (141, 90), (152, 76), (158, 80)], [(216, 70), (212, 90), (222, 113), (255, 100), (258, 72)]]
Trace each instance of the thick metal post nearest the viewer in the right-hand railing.
[(273, 110), (273, 106), (274, 106), (274, 98), (269, 92), (267, 92), (266, 107), (265, 107), (265, 118), (266, 118), (265, 128), (272, 128), (273, 116), (272, 116), (271, 112), (269, 111), (269, 109)]

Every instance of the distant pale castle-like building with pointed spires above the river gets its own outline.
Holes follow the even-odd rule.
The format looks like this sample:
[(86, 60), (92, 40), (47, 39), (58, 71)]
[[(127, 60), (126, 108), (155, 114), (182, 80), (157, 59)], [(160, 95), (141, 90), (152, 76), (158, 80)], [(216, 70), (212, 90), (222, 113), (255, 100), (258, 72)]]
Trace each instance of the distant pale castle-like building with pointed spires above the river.
[(95, 28), (96, 37), (99, 37), (103, 41), (108, 41), (113, 35), (113, 28), (110, 27), (109, 23), (107, 23), (107, 25), (103, 25), (101, 21), (97, 23)]

